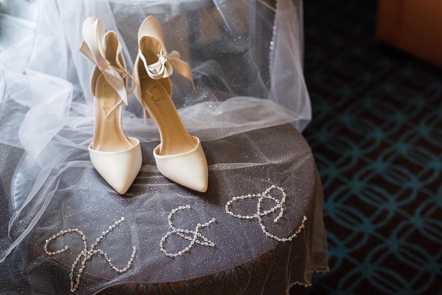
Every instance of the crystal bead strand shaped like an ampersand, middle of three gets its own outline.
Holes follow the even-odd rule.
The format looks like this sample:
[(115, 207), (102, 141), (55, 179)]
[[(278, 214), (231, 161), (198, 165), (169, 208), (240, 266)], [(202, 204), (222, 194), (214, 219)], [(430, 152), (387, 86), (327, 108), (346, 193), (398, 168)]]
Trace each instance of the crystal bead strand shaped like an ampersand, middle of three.
[[(164, 254), (166, 254), (169, 257), (176, 257), (178, 255), (183, 255), (184, 252), (189, 251), (192, 246), (195, 246), (196, 244), (200, 244), (200, 245), (205, 245), (205, 246), (214, 246), (215, 244), (208, 240), (207, 238), (205, 238), (200, 232), (199, 229), (205, 226), (209, 226), (210, 223), (215, 221), (215, 218), (212, 218), (211, 220), (209, 220), (208, 222), (201, 224), (198, 223), (197, 226), (195, 227), (195, 230), (183, 230), (180, 228), (176, 228), (175, 226), (173, 226), (172, 224), (172, 215), (178, 211), (178, 210), (183, 210), (183, 209), (190, 209), (190, 205), (186, 205), (186, 206), (179, 206), (176, 209), (173, 209), (172, 212), (168, 215), (168, 221), (169, 221), (169, 228), (172, 231), (168, 231), (167, 234), (164, 235), (163, 238), (161, 238), (160, 241), (160, 250), (161, 252), (163, 252)], [(178, 253), (168, 253), (166, 249), (163, 248), (163, 244), (166, 242), (166, 239), (171, 235), (171, 234), (177, 234), (179, 235), (181, 238), (184, 238), (186, 240), (191, 241), (190, 244), (184, 248), (183, 250), (179, 251)], [(187, 234), (189, 234), (187, 236)], [(201, 240), (199, 240), (201, 238)]]

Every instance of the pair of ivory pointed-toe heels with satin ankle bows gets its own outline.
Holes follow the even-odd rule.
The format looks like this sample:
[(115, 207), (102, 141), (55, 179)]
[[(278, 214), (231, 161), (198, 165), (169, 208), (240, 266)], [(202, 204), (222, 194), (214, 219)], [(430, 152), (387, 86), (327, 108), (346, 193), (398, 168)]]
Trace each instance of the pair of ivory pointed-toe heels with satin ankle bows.
[[(193, 85), (191, 68), (179, 59), (177, 51), (168, 54), (158, 20), (150, 15), (138, 30), (139, 50), (133, 77), (127, 72), (122, 46), (114, 31), (105, 33), (103, 22), (89, 17), (83, 23), (82, 33), (80, 51), (95, 64), (91, 76), (95, 132), (89, 145), (95, 169), (120, 194), (129, 189), (141, 169), (140, 141), (126, 137), (122, 128), (122, 106), (127, 105), (127, 96), (135, 88), (135, 96), (160, 131), (161, 143), (153, 150), (158, 170), (178, 184), (206, 192), (206, 156), (199, 138), (189, 135), (179, 118), (168, 78), (176, 70)], [(126, 90), (128, 77), (133, 86)]]

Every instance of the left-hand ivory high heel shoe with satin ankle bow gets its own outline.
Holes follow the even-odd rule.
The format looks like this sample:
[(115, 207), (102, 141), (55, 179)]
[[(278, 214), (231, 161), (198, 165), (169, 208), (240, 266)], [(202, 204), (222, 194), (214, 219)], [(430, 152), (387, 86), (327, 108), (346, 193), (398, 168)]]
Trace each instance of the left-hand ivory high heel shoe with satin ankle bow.
[(95, 101), (94, 140), (89, 156), (97, 172), (115, 191), (124, 194), (141, 169), (141, 147), (137, 138), (126, 137), (121, 123), (123, 103), (127, 105), (126, 62), (114, 31), (105, 34), (104, 24), (87, 18), (82, 28), (80, 51), (94, 64), (91, 90)]

